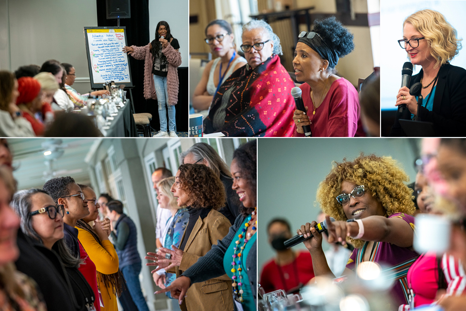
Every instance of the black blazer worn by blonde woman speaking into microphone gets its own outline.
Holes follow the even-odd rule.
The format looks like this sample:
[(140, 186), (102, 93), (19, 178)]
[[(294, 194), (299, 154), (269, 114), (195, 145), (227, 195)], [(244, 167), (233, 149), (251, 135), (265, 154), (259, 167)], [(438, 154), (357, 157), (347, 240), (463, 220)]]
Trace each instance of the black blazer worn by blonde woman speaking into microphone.
[[(411, 78), (410, 87), (420, 82), (423, 70)], [(433, 109), (419, 107), (420, 121), (432, 122), (438, 137), (466, 136), (466, 69), (442, 65), (433, 97)], [(398, 120), (390, 136), (406, 136)]]

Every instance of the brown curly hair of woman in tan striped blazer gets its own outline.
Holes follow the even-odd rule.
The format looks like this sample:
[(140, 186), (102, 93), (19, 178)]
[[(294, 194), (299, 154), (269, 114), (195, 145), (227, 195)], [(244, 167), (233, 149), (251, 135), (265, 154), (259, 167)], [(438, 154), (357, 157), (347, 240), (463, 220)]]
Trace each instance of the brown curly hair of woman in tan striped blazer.
[(217, 210), (225, 205), (225, 187), (211, 168), (203, 164), (183, 164), (178, 169), (181, 189), (193, 199), (191, 207)]

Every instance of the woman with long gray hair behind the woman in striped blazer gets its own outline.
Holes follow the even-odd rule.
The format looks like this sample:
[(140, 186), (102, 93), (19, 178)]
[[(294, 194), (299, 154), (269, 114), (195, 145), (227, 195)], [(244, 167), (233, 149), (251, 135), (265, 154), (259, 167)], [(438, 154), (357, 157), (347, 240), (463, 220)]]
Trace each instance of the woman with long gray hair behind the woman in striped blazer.
[(220, 177), (225, 187), (227, 200), (225, 201), (225, 206), (218, 211), (228, 218), (233, 225), (234, 220), (239, 215), (239, 206), (241, 203), (238, 200), (238, 195), (232, 189), (233, 179), (230, 177), (230, 169), (215, 149), (205, 142), (198, 142), (180, 155), (180, 162), (182, 164), (203, 164), (210, 167)]

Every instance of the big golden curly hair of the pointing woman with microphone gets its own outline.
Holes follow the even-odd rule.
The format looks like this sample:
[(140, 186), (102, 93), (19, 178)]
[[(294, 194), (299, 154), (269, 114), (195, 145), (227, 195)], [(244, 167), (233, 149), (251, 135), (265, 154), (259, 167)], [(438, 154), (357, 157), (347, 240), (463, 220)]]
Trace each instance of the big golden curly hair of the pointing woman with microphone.
[[(322, 211), (335, 218), (347, 221), (343, 207), (335, 197), (341, 192), (341, 183), (346, 180), (356, 185), (364, 185), (377, 201), (382, 204), (387, 215), (406, 213), (412, 215), (416, 207), (412, 200), (412, 190), (404, 184), (409, 181), (408, 175), (399, 168), (399, 164), (391, 156), (360, 154), (353, 161), (333, 162), (332, 171), (319, 184), (317, 202)], [(354, 247), (360, 248), (365, 241), (347, 238)]]

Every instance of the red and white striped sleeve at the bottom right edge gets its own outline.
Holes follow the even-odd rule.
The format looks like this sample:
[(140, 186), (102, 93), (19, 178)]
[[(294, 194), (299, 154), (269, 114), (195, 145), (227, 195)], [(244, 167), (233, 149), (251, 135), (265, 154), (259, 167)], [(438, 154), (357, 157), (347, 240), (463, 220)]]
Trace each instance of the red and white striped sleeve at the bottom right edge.
[(466, 293), (466, 275), (460, 260), (444, 254), (442, 268), (448, 282), (447, 296), (459, 296)]

